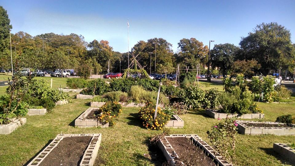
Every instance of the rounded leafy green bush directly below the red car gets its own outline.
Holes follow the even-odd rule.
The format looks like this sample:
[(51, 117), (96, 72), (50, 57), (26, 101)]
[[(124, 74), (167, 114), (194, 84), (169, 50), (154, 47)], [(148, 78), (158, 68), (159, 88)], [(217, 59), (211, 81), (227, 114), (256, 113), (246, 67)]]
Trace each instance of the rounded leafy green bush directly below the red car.
[(109, 91), (109, 85), (103, 79), (89, 81), (87, 87), (81, 91), (86, 95), (102, 95)]

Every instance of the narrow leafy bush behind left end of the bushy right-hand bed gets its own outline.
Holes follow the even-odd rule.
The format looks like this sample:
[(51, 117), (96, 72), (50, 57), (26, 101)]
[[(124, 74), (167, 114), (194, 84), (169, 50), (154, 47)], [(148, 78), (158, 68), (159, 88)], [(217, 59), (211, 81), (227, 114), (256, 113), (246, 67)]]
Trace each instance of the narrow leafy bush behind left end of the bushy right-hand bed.
[(210, 109), (217, 108), (219, 105), (218, 97), (219, 97), (219, 93), (217, 89), (216, 88), (210, 89), (205, 94), (204, 106)]

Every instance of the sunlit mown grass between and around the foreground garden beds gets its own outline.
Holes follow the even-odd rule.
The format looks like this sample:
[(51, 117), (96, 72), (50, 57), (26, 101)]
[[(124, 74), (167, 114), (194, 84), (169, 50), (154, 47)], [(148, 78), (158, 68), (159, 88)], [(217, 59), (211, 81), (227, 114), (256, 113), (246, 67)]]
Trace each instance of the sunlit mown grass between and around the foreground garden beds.
[[(220, 86), (220, 85), (219, 85)], [(74, 93), (70, 93), (72, 96)], [(23, 165), (36, 155), (57, 134), (102, 133), (102, 142), (95, 165), (161, 165), (165, 160), (150, 146), (148, 140), (160, 131), (142, 128), (138, 118), (139, 108), (124, 108), (109, 128), (77, 128), (74, 120), (89, 108), (91, 100), (73, 99), (72, 103), (57, 106), (44, 116), (27, 116), (27, 123), (9, 135), (0, 135), (0, 165)], [(277, 116), (295, 115), (295, 104), (259, 103), (266, 121)], [(190, 110), (180, 115), (185, 126), (171, 129), (171, 134), (197, 134), (210, 144), (206, 131), (218, 122), (205, 115), (204, 110)], [(236, 155), (238, 165), (288, 164), (272, 150), (274, 142), (291, 143), (295, 136), (237, 135)]]

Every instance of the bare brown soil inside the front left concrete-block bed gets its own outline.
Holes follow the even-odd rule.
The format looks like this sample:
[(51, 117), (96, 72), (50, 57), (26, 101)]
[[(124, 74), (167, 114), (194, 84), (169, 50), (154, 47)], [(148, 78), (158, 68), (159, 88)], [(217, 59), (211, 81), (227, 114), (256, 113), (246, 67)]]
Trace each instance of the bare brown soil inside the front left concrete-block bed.
[(83, 154), (91, 141), (92, 136), (65, 137), (45, 157), (40, 166), (43, 165), (79, 165)]

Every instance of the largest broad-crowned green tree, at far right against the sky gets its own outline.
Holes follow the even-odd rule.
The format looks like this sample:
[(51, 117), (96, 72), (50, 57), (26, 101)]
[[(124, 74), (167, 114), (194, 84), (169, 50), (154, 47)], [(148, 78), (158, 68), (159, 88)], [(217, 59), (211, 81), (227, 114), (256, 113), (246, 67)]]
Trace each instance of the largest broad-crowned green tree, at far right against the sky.
[(288, 58), (294, 59), (291, 34), (276, 22), (257, 25), (253, 32), (240, 42), (244, 59), (255, 59), (261, 65), (261, 72), (267, 74), (285, 66)]

